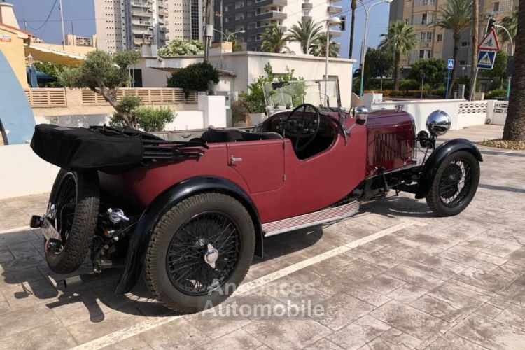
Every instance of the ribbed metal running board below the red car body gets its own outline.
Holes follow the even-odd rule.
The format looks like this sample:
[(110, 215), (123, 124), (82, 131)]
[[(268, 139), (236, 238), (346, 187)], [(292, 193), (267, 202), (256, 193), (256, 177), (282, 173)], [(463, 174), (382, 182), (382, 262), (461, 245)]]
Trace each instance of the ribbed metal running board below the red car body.
[(359, 203), (354, 200), (339, 207), (314, 211), (313, 213), (272, 221), (271, 223), (263, 223), (262, 231), (266, 232), (265, 237), (279, 235), (279, 233), (283, 232), (299, 230), (300, 228), (307, 228), (309, 226), (321, 225), (322, 223), (348, 218), (356, 214), (358, 210)]

